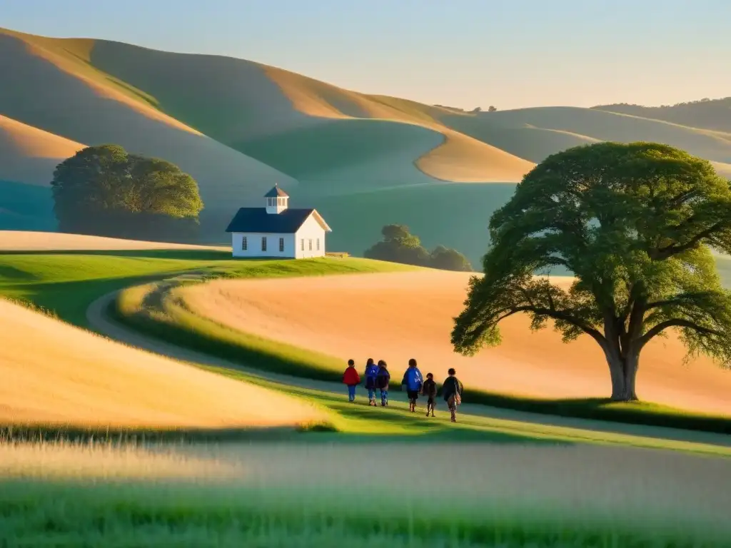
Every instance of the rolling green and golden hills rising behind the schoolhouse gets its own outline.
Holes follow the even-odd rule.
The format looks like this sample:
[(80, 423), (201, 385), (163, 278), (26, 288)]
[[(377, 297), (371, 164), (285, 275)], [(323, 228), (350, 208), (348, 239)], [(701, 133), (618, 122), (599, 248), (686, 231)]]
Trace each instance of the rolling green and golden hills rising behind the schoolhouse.
[(258, 205), (278, 183), (293, 207), (319, 208), (333, 221), (331, 248), (361, 254), (383, 224), (401, 222), (473, 263), (512, 185), (566, 148), (666, 142), (731, 177), (731, 133), (654, 119), (651, 110), (463, 113), (254, 61), (2, 29), (0, 71), (13, 76), (0, 86), (0, 229), (54, 229), (53, 167), (105, 142), (196, 178), (208, 242), (225, 240), (232, 213)]

